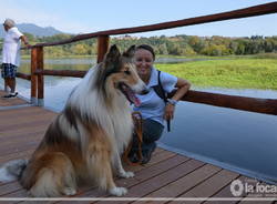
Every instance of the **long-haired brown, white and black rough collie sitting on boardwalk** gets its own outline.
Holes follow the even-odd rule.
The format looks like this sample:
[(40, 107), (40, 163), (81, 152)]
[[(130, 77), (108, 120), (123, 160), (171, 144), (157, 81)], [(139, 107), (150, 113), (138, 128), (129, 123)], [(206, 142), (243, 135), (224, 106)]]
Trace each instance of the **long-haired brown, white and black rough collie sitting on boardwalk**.
[(113, 173), (134, 176), (123, 170), (121, 153), (133, 132), (129, 101), (140, 103), (134, 93), (146, 91), (133, 52), (134, 47), (123, 54), (111, 47), (72, 91), (31, 159), (4, 164), (0, 180), (19, 178), (32, 196), (73, 195), (88, 180), (112, 195), (124, 195), (127, 191), (115, 185)]

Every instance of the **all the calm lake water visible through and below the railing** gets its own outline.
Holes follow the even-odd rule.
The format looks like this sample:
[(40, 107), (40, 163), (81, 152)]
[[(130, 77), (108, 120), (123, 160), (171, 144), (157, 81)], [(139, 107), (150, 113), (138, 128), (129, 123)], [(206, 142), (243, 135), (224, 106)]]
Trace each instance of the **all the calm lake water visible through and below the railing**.
[[(80, 59), (78, 62), (74, 59), (45, 62), (45, 69), (52, 67), (75, 69), (78, 67), (79, 70), (86, 70), (95, 63), (91, 59)], [(44, 104), (59, 112), (63, 109), (71, 90), (81, 79), (45, 76), (44, 81)], [(0, 80), (0, 86), (2, 83)], [(277, 99), (277, 91), (273, 90), (193, 89), (214, 93)], [(30, 82), (19, 79), (18, 91), (22, 96), (29, 99)], [(167, 133), (165, 130), (160, 145), (224, 169), (277, 183), (276, 124), (277, 116), (275, 115), (179, 102), (172, 122), (172, 132)]]

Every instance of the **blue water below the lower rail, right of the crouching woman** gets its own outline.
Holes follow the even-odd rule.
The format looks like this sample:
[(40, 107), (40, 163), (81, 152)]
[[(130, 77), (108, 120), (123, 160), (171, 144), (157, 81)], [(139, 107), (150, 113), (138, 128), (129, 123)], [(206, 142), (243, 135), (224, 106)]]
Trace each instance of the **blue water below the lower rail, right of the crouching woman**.
[(277, 181), (277, 116), (181, 102), (161, 144), (243, 174)]

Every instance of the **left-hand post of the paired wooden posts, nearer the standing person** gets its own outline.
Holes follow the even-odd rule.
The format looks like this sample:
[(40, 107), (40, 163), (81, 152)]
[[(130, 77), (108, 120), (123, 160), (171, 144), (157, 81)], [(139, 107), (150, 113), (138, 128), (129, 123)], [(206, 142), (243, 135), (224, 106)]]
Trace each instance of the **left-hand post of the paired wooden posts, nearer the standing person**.
[(37, 105), (37, 86), (38, 80), (34, 74), (38, 65), (38, 49), (32, 48), (31, 50), (31, 103)]

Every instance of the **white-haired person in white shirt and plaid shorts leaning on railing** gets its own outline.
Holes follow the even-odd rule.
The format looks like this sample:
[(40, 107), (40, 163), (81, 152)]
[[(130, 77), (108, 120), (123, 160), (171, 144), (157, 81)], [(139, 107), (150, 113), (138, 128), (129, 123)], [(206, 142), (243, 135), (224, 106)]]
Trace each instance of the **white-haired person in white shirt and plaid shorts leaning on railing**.
[(27, 47), (30, 44), (12, 19), (6, 19), (3, 28), (7, 33), (3, 39), (1, 75), (4, 79), (4, 90), (8, 92), (4, 98), (14, 98), (18, 94), (16, 92), (16, 73), (20, 65), (21, 40)]

